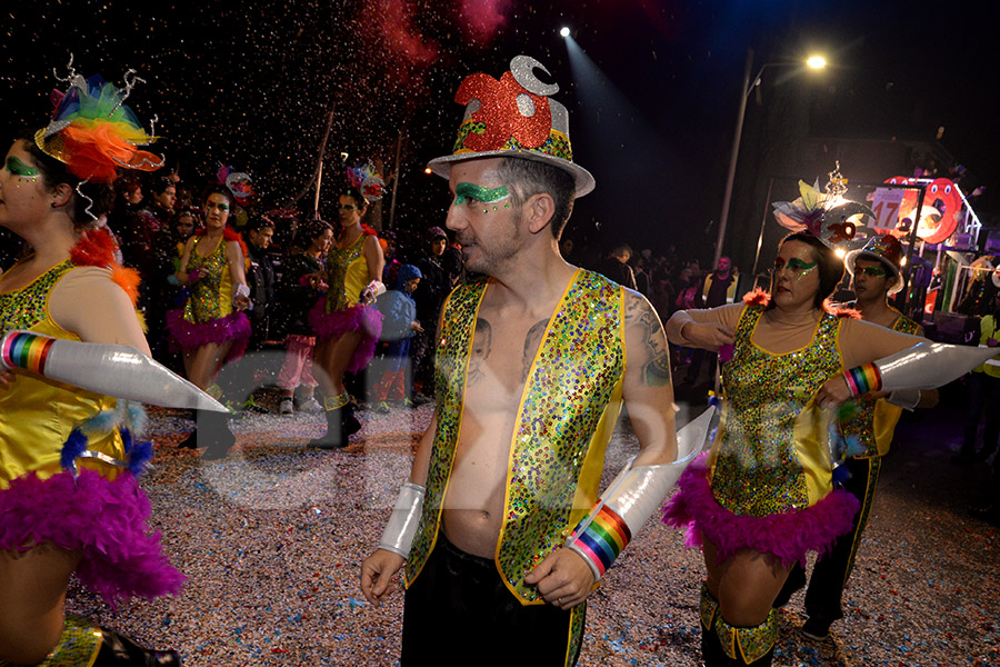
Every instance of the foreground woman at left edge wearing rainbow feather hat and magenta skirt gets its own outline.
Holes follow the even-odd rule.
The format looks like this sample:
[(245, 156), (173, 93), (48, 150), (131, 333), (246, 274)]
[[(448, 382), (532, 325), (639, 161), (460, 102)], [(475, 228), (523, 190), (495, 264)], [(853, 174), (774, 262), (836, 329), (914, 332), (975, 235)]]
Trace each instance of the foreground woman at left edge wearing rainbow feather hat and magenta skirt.
[(71, 71), (51, 122), (18, 138), (0, 168), (0, 226), (32, 249), (0, 275), (0, 336), (24, 330), (3, 360), (27, 359), (27, 370), (0, 371), (0, 664), (179, 665), (173, 651), (63, 615), (72, 574), (112, 606), (177, 594), (184, 578), (147, 526), (136, 482), (151, 456), (138, 441), (141, 406), (47, 379), (50, 348), (33, 347), (50, 337), (149, 355), (138, 279), (97, 226), (119, 169), (162, 165), (137, 148), (152, 138), (122, 103), (137, 80), (129, 71), (118, 89)]

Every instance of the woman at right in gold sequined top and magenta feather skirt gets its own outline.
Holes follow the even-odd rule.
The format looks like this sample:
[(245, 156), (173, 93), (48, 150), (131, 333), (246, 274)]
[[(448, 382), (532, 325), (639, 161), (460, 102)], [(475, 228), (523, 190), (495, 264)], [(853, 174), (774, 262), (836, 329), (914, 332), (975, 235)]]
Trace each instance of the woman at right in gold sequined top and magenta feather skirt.
[[(827, 299), (843, 276), (833, 245), (852, 235), (847, 218), (858, 205), (834, 208), (836, 196), (800, 189), (802, 199), (776, 205), (779, 222), (794, 233), (779, 246), (770, 293), (681, 310), (667, 323), (674, 345), (719, 350), (724, 360), (716, 441), (681, 477), (663, 519), (702, 548), (707, 667), (770, 665), (772, 604), (791, 567), (809, 551), (822, 557), (852, 529), (859, 502), (837, 484), (844, 444), (830, 436), (838, 417), (828, 408), (879, 390), (912, 407), (920, 389), (959, 377), (982, 357), (831, 311)], [(792, 208), (801, 210), (789, 217)]]

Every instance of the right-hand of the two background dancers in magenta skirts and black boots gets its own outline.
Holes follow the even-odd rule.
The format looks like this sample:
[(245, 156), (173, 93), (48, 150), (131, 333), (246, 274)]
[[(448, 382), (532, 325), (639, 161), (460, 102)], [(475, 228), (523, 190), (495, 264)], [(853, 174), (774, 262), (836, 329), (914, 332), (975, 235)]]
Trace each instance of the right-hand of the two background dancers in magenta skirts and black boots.
[(363, 225), (368, 199), (356, 187), (347, 188), (338, 201), (341, 231), (327, 256), (329, 290), (309, 312), (316, 331), (316, 375), (323, 391), (327, 434), (309, 442), (322, 449), (341, 448), (361, 430), (354, 417), (343, 376), (358, 372), (374, 356), (382, 331), (376, 297), (386, 291), (382, 269), (386, 258), (376, 231)]

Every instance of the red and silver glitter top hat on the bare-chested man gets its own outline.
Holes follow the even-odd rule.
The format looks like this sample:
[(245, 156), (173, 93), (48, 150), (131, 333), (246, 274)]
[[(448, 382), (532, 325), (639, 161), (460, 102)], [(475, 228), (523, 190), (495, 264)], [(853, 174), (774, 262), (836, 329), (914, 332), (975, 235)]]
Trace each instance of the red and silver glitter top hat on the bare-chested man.
[(522, 158), (569, 172), (577, 197), (593, 190), (593, 176), (573, 162), (569, 112), (549, 97), (559, 91), (559, 86), (539, 81), (536, 69), (549, 73), (534, 58), (517, 56), (499, 81), (483, 73), (467, 77), (454, 96), (454, 101), (466, 104), (454, 150), (431, 160), (428, 167), (448, 178), (451, 165), (461, 160)]

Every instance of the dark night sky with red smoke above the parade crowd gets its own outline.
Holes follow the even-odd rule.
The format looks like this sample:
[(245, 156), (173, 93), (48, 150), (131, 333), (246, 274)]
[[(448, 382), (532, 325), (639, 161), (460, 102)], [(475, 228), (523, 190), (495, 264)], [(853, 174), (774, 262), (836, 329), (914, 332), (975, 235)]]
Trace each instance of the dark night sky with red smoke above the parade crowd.
[[(396, 170), (394, 223), (443, 223), (447, 188), (423, 173), (450, 152), (462, 108), (452, 101), (476, 71), (498, 77), (526, 53), (548, 67), (571, 115), (576, 159), (597, 190), (578, 202), (570, 233), (637, 248), (711, 256), (740, 80), (821, 50), (819, 76), (770, 68), (751, 97), (749, 127), (767, 127), (776, 100), (808, 109), (811, 136), (941, 142), (969, 170), (963, 188), (987, 186), (977, 211), (1000, 212), (996, 160), (997, 17), (931, 2), (738, 0), (246, 0), (7, 2), (0, 12), (0, 127), (41, 127), (49, 90), (69, 53), (78, 72), (117, 83), (134, 68), (146, 83), (129, 104), (159, 117), (157, 145), (186, 181), (218, 165), (251, 173), (260, 208), (288, 205), (309, 181), (332, 110), (323, 211), (340, 178), (340, 153)], [(868, 6), (874, 6), (870, 8)], [(992, 10), (997, 13), (997, 10)], [(589, 59), (576, 70), (558, 30), (567, 24)], [(544, 78), (542, 76), (542, 78)], [(754, 126), (753, 123), (757, 123)], [(768, 130), (743, 145), (737, 182), (752, 176)], [(832, 168), (832, 165), (830, 166)], [(850, 177), (850, 166), (841, 166)], [(813, 180), (824, 175), (801, 175)], [(894, 175), (886, 175), (894, 176)], [(341, 181), (342, 182), (342, 181)], [(327, 190), (327, 188), (331, 188)], [(310, 208), (310, 190), (299, 202)], [(384, 200), (384, 221), (388, 223)], [(731, 225), (739, 226), (739, 222)]]

